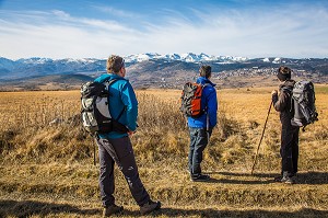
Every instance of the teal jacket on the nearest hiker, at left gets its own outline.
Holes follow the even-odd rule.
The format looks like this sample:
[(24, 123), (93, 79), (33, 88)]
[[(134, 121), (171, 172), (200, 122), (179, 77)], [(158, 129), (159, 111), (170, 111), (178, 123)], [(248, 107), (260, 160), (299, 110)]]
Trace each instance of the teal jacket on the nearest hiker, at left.
[[(128, 129), (134, 131), (137, 129), (138, 101), (132, 85), (127, 79), (113, 73), (102, 74), (101, 77), (95, 79), (95, 81), (104, 82), (107, 79), (119, 79), (108, 88), (110, 94), (110, 115), (116, 119), (125, 110), (118, 122), (128, 127)], [(128, 134), (117, 131), (99, 135), (101, 138), (122, 138), (125, 136), (128, 136)]]

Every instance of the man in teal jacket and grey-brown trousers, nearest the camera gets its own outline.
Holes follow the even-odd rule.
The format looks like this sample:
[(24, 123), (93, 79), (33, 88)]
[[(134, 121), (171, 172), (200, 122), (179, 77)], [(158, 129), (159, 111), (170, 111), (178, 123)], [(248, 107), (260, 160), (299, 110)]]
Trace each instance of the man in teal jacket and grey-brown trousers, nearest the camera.
[(98, 134), (97, 145), (99, 151), (99, 188), (104, 206), (103, 216), (122, 211), (122, 206), (115, 205), (113, 196), (115, 191), (114, 164), (117, 163), (124, 173), (130, 192), (140, 206), (141, 214), (148, 214), (161, 207), (160, 202), (150, 199), (138, 172), (134, 153), (129, 136), (137, 129), (138, 101), (136, 93), (127, 79), (124, 58), (110, 56), (107, 59), (107, 73), (102, 74), (95, 81), (105, 82), (116, 79), (108, 87), (109, 112), (118, 123), (126, 126), (125, 131), (116, 130)]

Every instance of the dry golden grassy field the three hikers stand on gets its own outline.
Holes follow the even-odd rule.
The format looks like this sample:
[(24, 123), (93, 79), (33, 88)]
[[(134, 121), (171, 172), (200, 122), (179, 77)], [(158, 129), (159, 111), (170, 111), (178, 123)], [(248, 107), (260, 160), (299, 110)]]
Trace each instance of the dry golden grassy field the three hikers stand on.
[[(180, 91), (139, 90), (132, 136), (140, 176), (156, 217), (328, 217), (328, 87), (316, 85), (319, 122), (300, 133), (297, 184), (280, 171), (279, 115), (271, 110), (255, 174), (251, 164), (274, 88), (218, 90), (219, 125), (204, 151), (208, 183), (186, 172), (189, 136)], [(0, 217), (99, 217), (93, 140), (79, 123), (79, 91), (0, 93)], [(141, 217), (116, 169), (119, 217)]]

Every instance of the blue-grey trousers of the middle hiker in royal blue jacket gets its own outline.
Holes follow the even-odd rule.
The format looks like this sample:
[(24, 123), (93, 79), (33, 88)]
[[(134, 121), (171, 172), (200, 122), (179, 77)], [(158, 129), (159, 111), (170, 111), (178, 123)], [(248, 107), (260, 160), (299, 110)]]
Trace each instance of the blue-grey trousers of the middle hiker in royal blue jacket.
[(188, 156), (188, 167), (191, 176), (196, 176), (201, 173), (200, 163), (202, 161), (202, 152), (209, 142), (212, 129), (209, 129), (209, 131), (207, 131), (206, 128), (189, 127), (189, 134), (190, 148)]

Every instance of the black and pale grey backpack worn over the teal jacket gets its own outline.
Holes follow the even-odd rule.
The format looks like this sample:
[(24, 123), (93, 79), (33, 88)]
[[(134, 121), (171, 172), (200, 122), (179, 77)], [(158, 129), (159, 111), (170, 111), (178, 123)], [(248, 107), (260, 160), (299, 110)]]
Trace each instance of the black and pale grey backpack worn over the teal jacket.
[(122, 115), (114, 119), (109, 112), (109, 97), (108, 88), (118, 79), (101, 82), (86, 82), (81, 87), (81, 117), (82, 126), (91, 135), (97, 133), (105, 134), (110, 131), (127, 133), (126, 126), (117, 121)]

